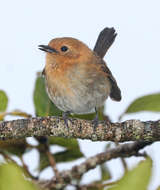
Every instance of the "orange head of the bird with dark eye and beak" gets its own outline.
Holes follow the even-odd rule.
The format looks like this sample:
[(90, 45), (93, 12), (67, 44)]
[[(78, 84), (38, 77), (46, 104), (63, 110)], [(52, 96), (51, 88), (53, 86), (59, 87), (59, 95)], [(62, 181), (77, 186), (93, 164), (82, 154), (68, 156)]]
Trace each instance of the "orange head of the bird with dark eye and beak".
[(85, 61), (93, 52), (83, 42), (75, 38), (55, 38), (48, 45), (39, 45), (39, 49), (47, 53), (48, 62), (72, 63)]

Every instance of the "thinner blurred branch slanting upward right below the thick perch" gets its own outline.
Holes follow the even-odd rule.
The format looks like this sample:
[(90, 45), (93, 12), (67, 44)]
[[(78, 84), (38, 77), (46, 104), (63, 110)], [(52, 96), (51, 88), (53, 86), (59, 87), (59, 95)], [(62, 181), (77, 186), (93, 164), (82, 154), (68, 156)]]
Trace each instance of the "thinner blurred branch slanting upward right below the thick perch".
[(67, 184), (70, 184), (72, 180), (80, 179), (80, 177), (87, 171), (95, 168), (99, 164), (103, 164), (108, 160), (119, 157), (130, 157), (132, 155), (144, 156), (143, 154), (138, 153), (138, 151), (149, 144), (150, 142), (137, 141), (134, 143), (119, 145), (116, 148), (109, 149), (106, 152), (88, 158), (85, 162), (80, 165), (74, 166), (71, 170), (62, 171), (61, 173), (59, 173), (61, 177), (61, 182), (58, 182), (56, 177), (53, 177), (52, 180), (43, 181), (40, 185), (49, 189), (51, 187), (54, 189), (62, 189)]

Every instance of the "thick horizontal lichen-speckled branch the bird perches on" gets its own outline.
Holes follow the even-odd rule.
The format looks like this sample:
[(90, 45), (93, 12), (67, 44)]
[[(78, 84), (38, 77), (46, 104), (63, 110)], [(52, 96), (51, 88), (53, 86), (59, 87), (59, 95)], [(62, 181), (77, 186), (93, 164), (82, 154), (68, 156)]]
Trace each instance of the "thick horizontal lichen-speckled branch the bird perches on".
[(31, 136), (58, 136), (90, 139), (92, 141), (159, 141), (160, 120), (128, 120), (121, 123), (100, 121), (97, 128), (92, 121), (69, 118), (68, 127), (61, 117), (35, 117), (0, 122), (0, 139)]

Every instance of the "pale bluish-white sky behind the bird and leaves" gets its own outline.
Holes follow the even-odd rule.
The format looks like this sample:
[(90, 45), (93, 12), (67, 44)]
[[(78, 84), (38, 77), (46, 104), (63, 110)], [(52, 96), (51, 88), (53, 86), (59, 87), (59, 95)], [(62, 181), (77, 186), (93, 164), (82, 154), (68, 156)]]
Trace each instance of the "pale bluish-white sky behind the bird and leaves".
[[(132, 100), (159, 91), (159, 10), (158, 0), (1, 0), (0, 89), (9, 96), (9, 110), (18, 108), (34, 113), (35, 76), (44, 67), (39, 44), (47, 44), (55, 37), (72, 36), (93, 48), (99, 32), (113, 26), (118, 37), (105, 60), (123, 95), (120, 103), (109, 100), (107, 104), (107, 113), (116, 121)], [(134, 114), (124, 119), (131, 118), (155, 120), (159, 113)], [(104, 147), (102, 143), (80, 142), (87, 156)], [(158, 143), (147, 149), (156, 160), (151, 189), (158, 185), (156, 179), (160, 177), (156, 148)]]

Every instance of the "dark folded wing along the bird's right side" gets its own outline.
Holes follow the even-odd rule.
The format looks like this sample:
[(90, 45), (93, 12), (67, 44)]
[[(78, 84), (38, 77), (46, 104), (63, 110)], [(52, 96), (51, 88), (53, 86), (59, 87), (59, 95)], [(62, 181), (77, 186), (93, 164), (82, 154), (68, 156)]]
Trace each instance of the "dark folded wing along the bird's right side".
[(110, 80), (111, 83), (111, 92), (110, 97), (115, 101), (121, 100), (121, 90), (117, 85), (116, 79), (113, 77), (110, 69), (106, 66), (105, 62), (103, 60), (100, 61), (101, 69), (107, 74), (107, 77)]

